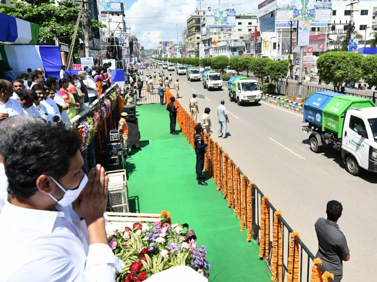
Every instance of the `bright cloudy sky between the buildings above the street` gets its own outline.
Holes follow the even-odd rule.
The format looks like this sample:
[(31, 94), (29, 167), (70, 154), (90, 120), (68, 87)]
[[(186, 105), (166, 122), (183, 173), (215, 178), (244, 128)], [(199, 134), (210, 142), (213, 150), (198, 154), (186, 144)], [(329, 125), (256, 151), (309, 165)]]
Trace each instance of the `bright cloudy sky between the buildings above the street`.
[[(247, 0), (235, 0), (235, 4)], [(236, 12), (257, 12), (257, 5), (262, 0), (236, 5)], [(159, 41), (176, 41), (178, 24), (178, 40), (181, 40), (181, 30), (187, 25), (187, 19), (195, 10), (199, 10), (199, 1), (196, 0), (136, 0), (124, 13), (126, 14), (127, 27), (131, 34), (136, 35), (145, 49), (153, 49)], [(202, 1), (202, 10), (205, 1)], [(169, 17), (156, 17), (169, 16)]]

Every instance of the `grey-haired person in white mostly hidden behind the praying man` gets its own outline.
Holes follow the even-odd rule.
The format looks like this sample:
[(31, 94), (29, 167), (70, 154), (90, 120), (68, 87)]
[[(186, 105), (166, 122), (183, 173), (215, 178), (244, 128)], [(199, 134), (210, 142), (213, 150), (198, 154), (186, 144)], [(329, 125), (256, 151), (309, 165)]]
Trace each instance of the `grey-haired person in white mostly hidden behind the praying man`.
[(0, 212), (5, 203), (11, 199), (10, 195), (8, 197), (8, 177), (6, 177), (4, 170), (5, 148), (13, 145), (12, 136), (18, 130), (22, 130), (23, 126), (38, 123), (43, 123), (43, 121), (31, 115), (14, 115), (8, 117), (0, 125)]

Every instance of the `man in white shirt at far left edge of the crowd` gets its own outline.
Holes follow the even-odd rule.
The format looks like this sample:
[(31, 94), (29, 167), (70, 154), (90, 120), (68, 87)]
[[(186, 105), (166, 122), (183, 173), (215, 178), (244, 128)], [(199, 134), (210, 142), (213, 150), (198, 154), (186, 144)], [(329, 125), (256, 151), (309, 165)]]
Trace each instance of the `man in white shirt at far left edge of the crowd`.
[(5, 79), (0, 79), (0, 123), (12, 115), (23, 114), (23, 109), (17, 100), (12, 99), (12, 84)]

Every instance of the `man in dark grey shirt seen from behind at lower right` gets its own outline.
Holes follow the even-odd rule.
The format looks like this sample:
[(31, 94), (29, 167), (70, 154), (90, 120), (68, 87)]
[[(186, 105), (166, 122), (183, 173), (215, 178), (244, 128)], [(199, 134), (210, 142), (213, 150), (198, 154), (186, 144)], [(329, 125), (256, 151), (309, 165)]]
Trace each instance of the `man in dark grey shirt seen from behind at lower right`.
[(342, 204), (331, 200), (326, 206), (327, 219), (321, 217), (314, 224), (318, 238), (316, 257), (322, 259), (323, 267), (334, 274), (334, 282), (342, 280), (343, 261), (349, 261), (346, 237), (337, 224), (342, 211)]

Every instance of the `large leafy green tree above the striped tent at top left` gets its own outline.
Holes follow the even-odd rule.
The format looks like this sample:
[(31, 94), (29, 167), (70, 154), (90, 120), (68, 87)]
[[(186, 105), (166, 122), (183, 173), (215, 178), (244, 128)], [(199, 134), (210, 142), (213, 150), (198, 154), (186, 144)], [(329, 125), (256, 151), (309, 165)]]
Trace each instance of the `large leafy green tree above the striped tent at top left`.
[[(63, 0), (55, 5), (53, 0), (10, 0), (10, 3), (14, 6), (0, 4), (0, 13), (38, 24), (40, 44), (55, 44), (55, 34), (60, 42), (70, 45), (79, 12), (77, 2)], [(92, 20), (90, 24), (93, 29), (105, 27), (104, 24), (95, 20)], [(78, 38), (83, 38), (81, 23), (75, 42), (76, 55), (79, 47), (82, 46)]]

